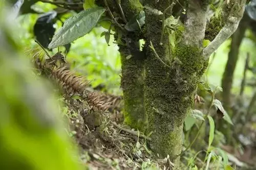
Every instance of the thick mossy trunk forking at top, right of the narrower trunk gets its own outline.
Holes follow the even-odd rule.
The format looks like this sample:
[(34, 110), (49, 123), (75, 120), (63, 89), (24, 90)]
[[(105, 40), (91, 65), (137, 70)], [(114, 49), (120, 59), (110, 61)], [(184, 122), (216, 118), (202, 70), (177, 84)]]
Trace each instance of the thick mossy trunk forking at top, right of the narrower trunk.
[[(148, 2), (154, 4), (152, 1)], [(170, 4), (172, 1), (159, 1), (154, 8), (164, 11)], [(170, 50), (168, 41), (170, 30), (167, 27), (164, 29), (163, 44), (160, 45), (162, 18), (151, 12), (146, 12), (145, 18), (146, 45), (148, 46), (152, 41), (156, 53), (162, 60), (150, 47), (147, 47), (144, 104), (148, 116), (148, 132), (153, 132), (151, 149), (162, 158), (169, 155), (176, 164), (179, 161), (177, 155), (182, 149), (183, 122), (186, 114), (193, 107), (195, 90), (207, 65), (201, 48), (206, 18), (201, 10), (197, 13), (199, 17), (193, 17), (201, 17), (197, 20), (198, 25), (193, 25), (192, 29), (188, 24), (182, 37), (184, 41), (176, 44), (173, 50)], [(166, 18), (170, 15), (171, 11), (168, 11)], [(187, 15), (189, 17), (189, 12)], [(193, 24), (195, 21), (190, 22)], [(200, 36), (191, 37), (191, 34), (195, 33)], [(188, 35), (190, 37), (187, 37)]]

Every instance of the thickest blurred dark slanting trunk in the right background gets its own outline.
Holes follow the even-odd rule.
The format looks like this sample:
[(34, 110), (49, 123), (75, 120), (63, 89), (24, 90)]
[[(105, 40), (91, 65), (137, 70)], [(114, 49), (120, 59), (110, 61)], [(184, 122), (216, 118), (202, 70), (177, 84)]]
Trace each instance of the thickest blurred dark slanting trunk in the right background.
[(244, 15), (243, 19), (240, 22), (240, 25), (236, 32), (234, 32), (231, 40), (231, 47), (228, 53), (228, 60), (225, 67), (225, 71), (222, 76), (222, 101), (224, 108), (228, 109), (230, 107), (230, 94), (233, 83), (234, 70), (236, 69), (238, 56), (239, 56), (239, 47), (244, 38), (244, 34), (248, 25), (247, 15)]

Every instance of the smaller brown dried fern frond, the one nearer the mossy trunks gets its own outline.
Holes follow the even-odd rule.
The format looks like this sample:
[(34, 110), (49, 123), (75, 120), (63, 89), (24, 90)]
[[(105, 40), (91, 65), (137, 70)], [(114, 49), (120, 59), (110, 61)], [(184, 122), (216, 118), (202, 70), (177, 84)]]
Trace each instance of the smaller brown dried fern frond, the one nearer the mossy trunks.
[(88, 93), (88, 101), (89, 105), (92, 106), (94, 110), (102, 110), (107, 111), (110, 107), (110, 103), (106, 103), (100, 99), (100, 95), (96, 92), (89, 92)]

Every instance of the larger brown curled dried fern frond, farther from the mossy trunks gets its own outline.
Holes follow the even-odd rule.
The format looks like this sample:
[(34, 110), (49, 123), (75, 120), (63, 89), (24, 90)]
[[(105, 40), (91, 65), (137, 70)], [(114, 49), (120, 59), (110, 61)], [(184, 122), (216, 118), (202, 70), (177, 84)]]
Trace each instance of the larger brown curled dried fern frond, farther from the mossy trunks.
[(89, 84), (89, 81), (83, 76), (76, 76), (75, 72), (69, 70), (67, 67), (53, 69), (51, 77), (56, 79), (63, 89), (80, 94), (85, 93), (86, 86)]

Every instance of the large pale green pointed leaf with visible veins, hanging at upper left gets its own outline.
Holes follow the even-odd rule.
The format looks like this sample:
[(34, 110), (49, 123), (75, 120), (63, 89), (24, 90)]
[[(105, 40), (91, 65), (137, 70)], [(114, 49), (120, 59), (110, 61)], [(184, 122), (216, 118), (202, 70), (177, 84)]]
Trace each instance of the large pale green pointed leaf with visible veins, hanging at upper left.
[(68, 44), (89, 33), (97, 24), (104, 8), (91, 8), (68, 18), (63, 27), (53, 36), (49, 48)]

